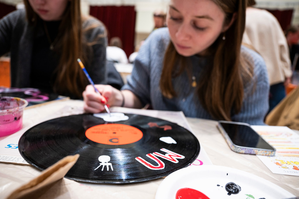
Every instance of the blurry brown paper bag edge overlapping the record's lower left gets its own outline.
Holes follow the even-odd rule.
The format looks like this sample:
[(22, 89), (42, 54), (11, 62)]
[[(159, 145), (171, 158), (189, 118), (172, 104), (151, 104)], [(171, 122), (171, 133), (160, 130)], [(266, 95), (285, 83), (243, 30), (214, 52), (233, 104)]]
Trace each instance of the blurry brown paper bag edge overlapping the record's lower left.
[(77, 162), (78, 158), (79, 154), (61, 159), (45, 171), (42, 171), (38, 177), (13, 191), (6, 199), (38, 198), (44, 193), (43, 190), (49, 189), (54, 185), (54, 182), (62, 179)]

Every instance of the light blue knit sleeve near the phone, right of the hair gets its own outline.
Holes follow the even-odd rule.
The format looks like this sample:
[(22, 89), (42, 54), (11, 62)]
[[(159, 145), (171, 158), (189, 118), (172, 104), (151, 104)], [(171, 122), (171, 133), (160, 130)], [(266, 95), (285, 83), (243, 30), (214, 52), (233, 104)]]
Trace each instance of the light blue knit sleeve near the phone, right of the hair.
[[(242, 47), (243, 51), (244, 48)], [(251, 125), (265, 125), (264, 118), (269, 109), (269, 78), (263, 58), (247, 49), (246, 56), (254, 62), (253, 81), (245, 83), (244, 98), (240, 113), (232, 116), (232, 121), (245, 122)]]

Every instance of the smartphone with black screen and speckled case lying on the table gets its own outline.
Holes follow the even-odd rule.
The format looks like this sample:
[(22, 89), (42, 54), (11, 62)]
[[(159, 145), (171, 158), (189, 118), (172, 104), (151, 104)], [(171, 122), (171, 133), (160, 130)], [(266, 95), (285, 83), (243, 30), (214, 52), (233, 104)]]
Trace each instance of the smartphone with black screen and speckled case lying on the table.
[(249, 124), (219, 121), (217, 125), (231, 150), (243, 154), (274, 156), (276, 149), (266, 142)]

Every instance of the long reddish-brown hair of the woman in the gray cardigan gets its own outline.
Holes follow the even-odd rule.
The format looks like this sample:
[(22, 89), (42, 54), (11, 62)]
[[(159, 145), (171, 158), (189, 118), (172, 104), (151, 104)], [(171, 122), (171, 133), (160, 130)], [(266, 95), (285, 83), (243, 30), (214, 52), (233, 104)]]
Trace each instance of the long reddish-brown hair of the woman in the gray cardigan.
[[(28, 0), (24, 0), (28, 22), (36, 25), (40, 20), (39, 16), (33, 11)], [(84, 37), (82, 23), (84, 19), (81, 16), (80, 1), (68, 1), (65, 13), (59, 27), (59, 52), (61, 54), (58, 67), (56, 69), (57, 77), (54, 82), (54, 92), (58, 94), (71, 93), (82, 98), (88, 81), (78, 66), (77, 59), (80, 58), (85, 65), (90, 54), (90, 44)]]

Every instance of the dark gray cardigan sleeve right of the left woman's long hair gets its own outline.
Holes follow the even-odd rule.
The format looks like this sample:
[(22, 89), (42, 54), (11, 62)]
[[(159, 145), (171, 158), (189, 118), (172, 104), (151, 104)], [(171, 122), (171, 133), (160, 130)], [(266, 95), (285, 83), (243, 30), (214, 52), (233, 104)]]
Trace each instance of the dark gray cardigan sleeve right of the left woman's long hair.
[[(96, 27), (89, 29), (89, 26)], [(90, 65), (86, 67), (86, 70), (95, 84), (107, 84), (107, 34), (105, 26), (97, 19), (90, 17), (84, 22), (83, 28), (88, 29), (85, 33), (85, 37), (87, 42), (92, 44), (92, 52), (89, 55)]]

